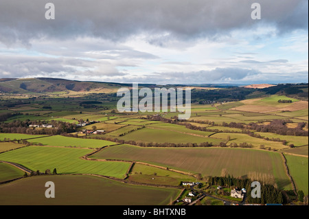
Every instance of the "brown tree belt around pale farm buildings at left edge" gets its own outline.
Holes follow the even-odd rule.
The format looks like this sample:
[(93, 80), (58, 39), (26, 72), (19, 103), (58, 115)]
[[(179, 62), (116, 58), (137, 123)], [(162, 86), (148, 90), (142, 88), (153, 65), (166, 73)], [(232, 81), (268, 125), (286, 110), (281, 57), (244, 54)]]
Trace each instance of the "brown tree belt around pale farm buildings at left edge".
[[(30, 125), (52, 124), (53, 128), (30, 128)], [(76, 125), (62, 121), (26, 121), (14, 120), (8, 123), (0, 123), (0, 132), (21, 133), (28, 135), (60, 135), (65, 132), (76, 132)]]

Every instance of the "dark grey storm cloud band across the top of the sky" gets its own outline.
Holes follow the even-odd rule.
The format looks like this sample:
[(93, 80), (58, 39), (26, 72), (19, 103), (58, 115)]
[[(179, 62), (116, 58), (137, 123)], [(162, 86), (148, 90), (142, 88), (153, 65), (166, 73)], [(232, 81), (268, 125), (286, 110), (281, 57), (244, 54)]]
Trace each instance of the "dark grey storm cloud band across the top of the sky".
[[(45, 19), (45, 3), (56, 7), (56, 19)], [(236, 28), (251, 28), (251, 0), (1, 0), (0, 41), (27, 47), (35, 38), (91, 36), (122, 41), (134, 34), (151, 34), (150, 43), (166, 38), (214, 39)], [(258, 1), (260, 23), (279, 33), (308, 29), (308, 1)]]

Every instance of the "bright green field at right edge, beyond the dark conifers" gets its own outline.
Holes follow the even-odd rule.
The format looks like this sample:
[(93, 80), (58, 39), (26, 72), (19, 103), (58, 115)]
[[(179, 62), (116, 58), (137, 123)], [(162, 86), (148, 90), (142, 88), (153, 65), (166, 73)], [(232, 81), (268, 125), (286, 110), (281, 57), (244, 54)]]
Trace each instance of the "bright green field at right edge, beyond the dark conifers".
[(308, 158), (297, 157), (291, 155), (284, 155), (286, 157), (286, 163), (290, 170), (296, 188), (303, 190), (305, 195), (308, 195)]

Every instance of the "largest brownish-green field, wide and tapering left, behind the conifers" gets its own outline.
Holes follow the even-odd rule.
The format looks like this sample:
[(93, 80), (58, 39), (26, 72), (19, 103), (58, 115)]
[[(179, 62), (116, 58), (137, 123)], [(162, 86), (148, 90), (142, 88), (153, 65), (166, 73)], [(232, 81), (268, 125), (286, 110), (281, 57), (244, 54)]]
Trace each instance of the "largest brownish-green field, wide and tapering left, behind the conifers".
[(144, 161), (163, 167), (220, 176), (226, 168), (233, 176), (249, 172), (273, 174), (280, 187), (290, 187), (279, 153), (242, 148), (140, 148), (113, 146), (92, 156), (95, 159), (124, 159)]

